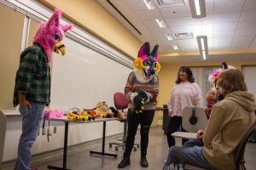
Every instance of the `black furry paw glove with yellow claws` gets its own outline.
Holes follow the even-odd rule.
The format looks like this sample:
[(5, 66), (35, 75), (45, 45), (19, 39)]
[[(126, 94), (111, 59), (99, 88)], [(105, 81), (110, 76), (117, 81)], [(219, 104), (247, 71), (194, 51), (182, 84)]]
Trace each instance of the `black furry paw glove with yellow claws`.
[(143, 105), (148, 100), (148, 94), (145, 91), (139, 91), (133, 99), (134, 110), (141, 113), (144, 110)]

